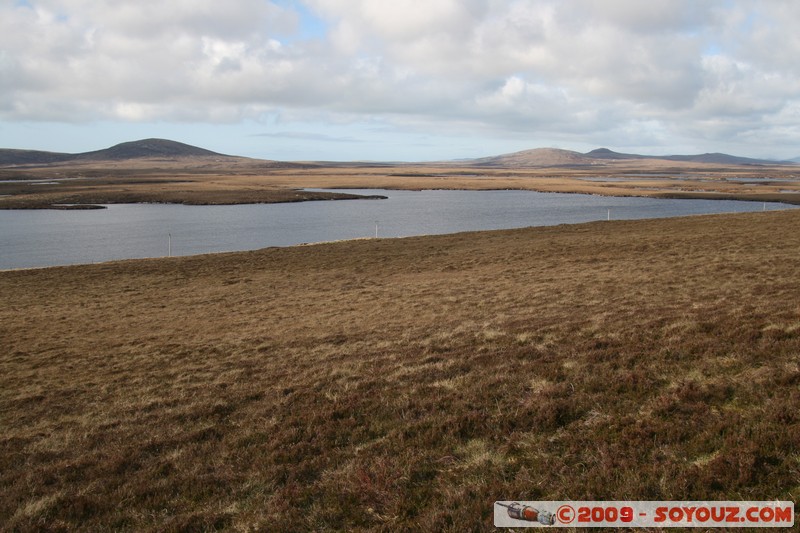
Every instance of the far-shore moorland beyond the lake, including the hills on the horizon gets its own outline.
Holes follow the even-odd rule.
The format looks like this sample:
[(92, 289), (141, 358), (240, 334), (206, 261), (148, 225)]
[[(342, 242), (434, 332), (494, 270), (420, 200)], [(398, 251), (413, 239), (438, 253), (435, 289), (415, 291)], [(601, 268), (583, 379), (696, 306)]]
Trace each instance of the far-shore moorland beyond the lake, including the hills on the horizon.
[[(800, 167), (733, 156), (652, 158), (534, 149), (433, 163), (279, 162), (149, 139), (67, 154), (0, 151), (0, 209), (193, 205), (348, 198), (336, 189), (522, 189), (800, 204)], [(591, 155), (594, 154), (594, 155)], [(675, 157), (675, 156), (673, 156)], [(757, 161), (757, 160), (755, 160)]]

